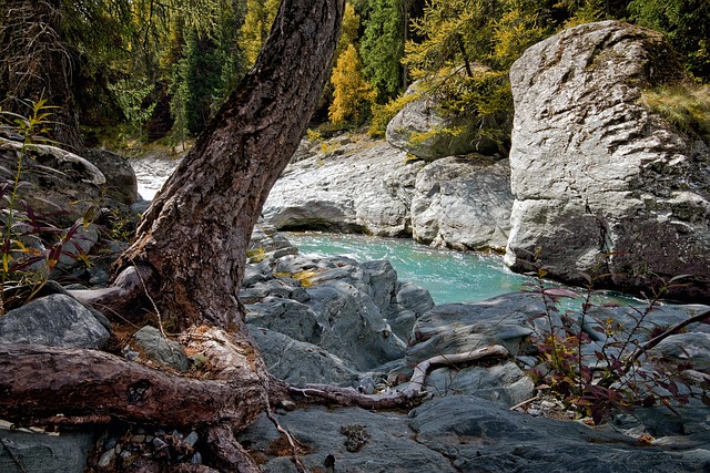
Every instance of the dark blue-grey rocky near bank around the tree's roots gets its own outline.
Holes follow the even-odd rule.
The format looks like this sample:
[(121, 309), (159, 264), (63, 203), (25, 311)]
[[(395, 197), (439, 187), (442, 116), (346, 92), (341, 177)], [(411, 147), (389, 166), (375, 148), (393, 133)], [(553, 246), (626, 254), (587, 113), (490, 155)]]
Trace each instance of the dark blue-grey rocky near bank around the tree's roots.
[[(439, 363), (425, 382), (433, 399), (408, 413), (278, 410), (278, 422), (296, 439), (310, 471), (665, 472), (710, 466), (710, 419), (697, 399), (674, 407), (676, 413), (665, 407), (639, 409), (633, 415), (619, 412), (596, 428), (572, 420), (574, 413), (549, 400), (529, 401), (538, 392), (527, 370), (539, 362), (529, 340), (547, 330), (538, 317), (545, 311), (539, 295), (513, 292), (481, 302), (434, 306), (425, 289), (399, 281), (387, 261), (304, 257), (268, 227), (255, 229), (250, 255), (240, 292), (250, 331), (270, 371), (294, 384), (334, 383), (383, 392), (405, 387), (414, 366), (433, 357), (494, 343), (510, 352)], [(637, 340), (703, 309), (659, 308), (652, 322), (638, 330)], [(617, 320), (620, 339), (632, 330), (632, 309), (598, 310), (592, 320)], [(594, 323), (588, 332), (599, 333)], [(0, 319), (0, 335), (8, 342), (97, 348), (109, 338), (105, 320), (65, 294), (9, 312)], [(159, 330), (144, 328), (126, 341), (122, 356), (175, 370), (199, 369), (199, 357), (176, 356), (182, 353), (180, 346), (161, 338)], [(586, 350), (605, 342), (597, 337)], [(669, 337), (652, 357), (674, 363), (692, 360), (696, 372), (707, 376), (701, 373), (710, 369), (710, 329), (691, 325), (688, 332)], [(3, 472), (21, 472), (16, 460), (50, 469), (38, 466), (33, 472), (80, 472), (81, 457), (85, 461), (90, 450), (94, 453), (88, 467), (94, 472), (132, 471), (130, 465), (140, 465), (145, 455), (196, 464), (209, 454), (200, 450), (200, 432), (119, 430), (51, 436), (0, 430), (0, 438), (6, 445), (0, 455)], [(266, 418), (242, 432), (240, 441), (264, 471), (295, 471), (291, 450)], [(71, 464), (77, 466), (67, 466)]]

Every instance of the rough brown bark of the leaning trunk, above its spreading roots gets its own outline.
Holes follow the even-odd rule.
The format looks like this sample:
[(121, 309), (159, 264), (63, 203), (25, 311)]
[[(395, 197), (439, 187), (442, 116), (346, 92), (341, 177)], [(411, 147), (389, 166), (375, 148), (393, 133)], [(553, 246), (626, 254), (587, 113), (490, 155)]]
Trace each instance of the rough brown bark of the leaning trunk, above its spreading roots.
[(122, 264), (155, 271), (154, 296), (176, 328), (243, 329), (246, 246), (317, 105), (343, 3), (284, 0), (256, 65), (143, 216)]

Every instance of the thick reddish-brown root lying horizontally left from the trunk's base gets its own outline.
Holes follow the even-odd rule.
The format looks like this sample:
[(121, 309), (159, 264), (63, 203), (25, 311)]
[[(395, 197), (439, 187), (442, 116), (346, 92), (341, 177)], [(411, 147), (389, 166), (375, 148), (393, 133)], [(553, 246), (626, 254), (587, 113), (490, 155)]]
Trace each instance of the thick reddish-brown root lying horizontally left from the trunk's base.
[[(267, 401), (252, 347), (219, 329), (201, 331), (192, 347), (223, 363), (214, 366), (211, 379), (160, 371), (98, 350), (0, 345), (0, 412), (20, 425), (72, 418), (186, 429), (251, 423)], [(272, 392), (284, 392), (277, 380), (268, 383)]]

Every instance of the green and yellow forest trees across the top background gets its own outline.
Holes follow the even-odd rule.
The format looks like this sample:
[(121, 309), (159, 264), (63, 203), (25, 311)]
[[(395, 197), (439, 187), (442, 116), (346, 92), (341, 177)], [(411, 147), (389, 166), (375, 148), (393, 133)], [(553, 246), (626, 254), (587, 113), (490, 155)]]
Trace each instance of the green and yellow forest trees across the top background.
[[(114, 140), (121, 131), (184, 143), (254, 64), (277, 8), (278, 0), (7, 0), (0, 106), (23, 113), (24, 100), (45, 99), (59, 107), (53, 138), (79, 150), (105, 145), (106, 130)], [(707, 83), (709, 17), (703, 0), (348, 0), (314, 125), (382, 127), (387, 116), (378, 115), (396, 112), (414, 80), (486, 123), (511, 110), (508, 69), (525, 49), (605, 19), (663, 32)]]

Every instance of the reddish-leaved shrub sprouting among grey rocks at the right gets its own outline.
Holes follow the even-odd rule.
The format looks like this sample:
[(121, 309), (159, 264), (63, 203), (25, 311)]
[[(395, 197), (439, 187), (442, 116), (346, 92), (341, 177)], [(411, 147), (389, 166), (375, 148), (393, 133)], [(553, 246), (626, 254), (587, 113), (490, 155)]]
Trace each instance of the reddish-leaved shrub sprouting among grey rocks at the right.
[[(647, 322), (660, 307), (662, 297), (682, 279), (672, 278), (656, 291), (643, 308), (630, 307), (629, 316), (635, 319), (632, 327), (623, 328), (613, 319), (599, 319), (592, 309), (595, 278), (587, 279), (587, 288), (581, 310), (562, 312), (562, 299), (580, 296), (571, 290), (549, 287), (544, 278), (547, 270), (537, 268), (536, 281), (527, 284), (526, 290), (540, 296), (544, 311), (534, 316), (544, 321), (545, 327), (537, 339), (540, 363), (530, 370), (538, 390), (549, 390), (564, 404), (582, 417), (589, 417), (595, 424), (607, 419), (615, 411), (632, 411), (637, 407), (666, 405), (676, 412), (674, 405), (683, 405), (690, 397), (697, 397), (710, 405), (710, 376), (704, 381), (690, 385), (684, 376), (692, 363), (671, 363), (655, 359), (649, 350), (661, 340), (680, 332), (693, 321), (710, 317), (710, 310), (694, 315), (686, 321), (669, 328), (656, 327), (650, 333)], [(591, 333), (598, 339), (595, 342)], [(647, 337), (642, 341), (642, 336)]]

